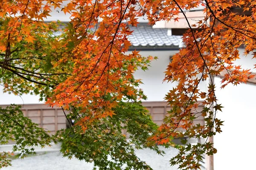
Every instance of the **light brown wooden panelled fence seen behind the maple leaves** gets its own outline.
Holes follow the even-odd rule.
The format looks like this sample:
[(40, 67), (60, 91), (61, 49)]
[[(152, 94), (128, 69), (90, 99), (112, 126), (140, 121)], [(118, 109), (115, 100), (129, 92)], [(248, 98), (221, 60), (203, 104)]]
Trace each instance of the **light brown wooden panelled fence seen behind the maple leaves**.
[[(167, 106), (166, 102), (143, 102), (143, 105), (148, 109), (153, 121), (161, 125), (163, 118), (167, 111), (171, 108)], [(6, 105), (0, 105), (4, 107)], [(201, 111), (203, 106), (199, 106), (197, 111)], [(66, 117), (61, 108), (50, 108), (44, 104), (26, 104), (23, 105), (22, 111), (25, 116), (29, 117), (32, 122), (37, 123), (54, 134), (57, 130), (66, 128)], [(65, 111), (66, 114), (68, 113)], [(204, 117), (199, 116), (194, 120), (195, 124), (200, 123), (204, 125)], [(125, 133), (125, 131), (123, 132)], [(128, 135), (128, 134), (127, 134)]]

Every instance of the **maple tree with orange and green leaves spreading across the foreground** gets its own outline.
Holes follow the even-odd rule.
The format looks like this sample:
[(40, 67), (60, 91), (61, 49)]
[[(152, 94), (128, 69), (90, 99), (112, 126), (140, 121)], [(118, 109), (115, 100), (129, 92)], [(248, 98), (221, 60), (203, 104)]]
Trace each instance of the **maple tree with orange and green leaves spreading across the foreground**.
[[(67, 116), (76, 120), (75, 126), (54, 136), (54, 140), (62, 142), (64, 156), (93, 161), (101, 169), (122, 169), (125, 164), (126, 169), (150, 169), (134, 155), (132, 144), (137, 148), (150, 147), (160, 154), (156, 144), (163, 144), (180, 150), (171, 164), (179, 164), (180, 169), (198, 169), (202, 154), (216, 153), (207, 139), (221, 132), (223, 122), (215, 117), (222, 106), (215, 96), (212, 75), (227, 71), (222, 88), (253, 78), (250, 70), (241, 70), (234, 61), (239, 59), (240, 46), (244, 46), (245, 55), (256, 58), (256, 2), (69, 0), (65, 5), (63, 2), (0, 2), (0, 80), (4, 91), (37, 94), (50, 106), (72, 110)], [(205, 7), (205, 17), (197, 25), (190, 25), (184, 11), (198, 6)], [(44, 23), (55, 8), (71, 14), (61, 35), (54, 34), (61, 23)], [(189, 26), (183, 35), (186, 48), (172, 57), (166, 69), (164, 80), (178, 83), (166, 94), (172, 109), (157, 127), (141, 106), (140, 100), (146, 99), (138, 88), (142, 82), (133, 76), (139, 68), (146, 70), (154, 58), (142, 57), (139, 51), (127, 54), (131, 45), (128, 35), (132, 34), (130, 28), (137, 26), (138, 17), (146, 16), (148, 23), (154, 25), (160, 20), (178, 21), (180, 14)], [(198, 85), (206, 79), (210, 82), (208, 89), (201, 91)], [(201, 103), (204, 110), (199, 114), (205, 117), (205, 125), (193, 123), (198, 99), (204, 101)], [(13, 109), (3, 108), (1, 114), (8, 116)], [(23, 118), (20, 121), (23, 122), (20, 130), (26, 124), (36, 128)], [(122, 136), (122, 128), (131, 133), (131, 142)], [(183, 130), (177, 130), (180, 128)], [(27, 134), (26, 130), (20, 136)], [(44, 134), (41, 139), (47, 139), (41, 145), (49, 144), (50, 137), (42, 131), (38, 131), (32, 143), (40, 141), (40, 134)], [(183, 137), (204, 138), (206, 142), (191, 145), (183, 140), (183, 146), (172, 142)], [(6, 160), (6, 153), (1, 159)], [(1, 166), (7, 164), (8, 161)]]

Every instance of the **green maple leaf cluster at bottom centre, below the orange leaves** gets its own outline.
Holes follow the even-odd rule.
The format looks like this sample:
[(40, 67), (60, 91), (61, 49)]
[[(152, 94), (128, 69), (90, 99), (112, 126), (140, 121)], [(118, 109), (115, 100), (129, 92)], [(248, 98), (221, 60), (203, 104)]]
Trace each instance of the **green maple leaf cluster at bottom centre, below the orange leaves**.
[[(90, 125), (84, 125), (83, 121), (83, 125), (78, 125), (80, 119), (88, 114), (73, 110), (67, 116), (76, 124), (55, 135), (61, 142), (61, 153), (70, 159), (75, 156), (79, 160), (93, 162), (95, 169), (99, 170), (151, 170), (135, 154), (136, 150), (148, 147), (148, 137), (157, 130), (148, 111), (140, 102), (119, 102), (113, 112), (112, 118), (101, 118)], [(123, 130), (129, 134), (128, 140)], [(163, 154), (157, 145), (149, 148)]]

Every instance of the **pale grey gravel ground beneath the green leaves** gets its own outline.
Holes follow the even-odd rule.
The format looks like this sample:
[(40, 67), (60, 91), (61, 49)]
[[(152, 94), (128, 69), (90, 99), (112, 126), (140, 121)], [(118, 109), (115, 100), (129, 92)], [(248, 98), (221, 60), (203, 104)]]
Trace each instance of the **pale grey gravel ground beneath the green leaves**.
[[(137, 156), (147, 162), (154, 170), (177, 170), (177, 167), (170, 167), (169, 160), (177, 154), (174, 148), (161, 148), (166, 155), (159, 156), (154, 151), (145, 149), (138, 150)], [(38, 156), (30, 156), (25, 159), (12, 160), (12, 167), (3, 170), (92, 170), (93, 164), (79, 161), (75, 158), (67, 159), (61, 156), (58, 151), (46, 152)]]

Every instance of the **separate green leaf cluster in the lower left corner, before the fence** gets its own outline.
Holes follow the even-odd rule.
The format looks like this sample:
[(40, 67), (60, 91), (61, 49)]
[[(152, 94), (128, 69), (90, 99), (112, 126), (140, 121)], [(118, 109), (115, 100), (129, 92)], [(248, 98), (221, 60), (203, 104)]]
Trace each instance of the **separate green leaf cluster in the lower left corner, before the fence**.
[[(24, 158), (26, 155), (36, 154), (33, 148), (35, 146), (50, 146), (51, 136), (25, 117), (21, 106), (10, 105), (0, 108), (0, 144), (8, 142), (15, 142), (12, 150), (17, 153), (15, 157)], [(11, 165), (8, 159), (10, 155), (11, 153), (1, 153), (1, 167)]]

